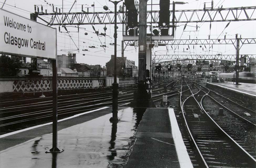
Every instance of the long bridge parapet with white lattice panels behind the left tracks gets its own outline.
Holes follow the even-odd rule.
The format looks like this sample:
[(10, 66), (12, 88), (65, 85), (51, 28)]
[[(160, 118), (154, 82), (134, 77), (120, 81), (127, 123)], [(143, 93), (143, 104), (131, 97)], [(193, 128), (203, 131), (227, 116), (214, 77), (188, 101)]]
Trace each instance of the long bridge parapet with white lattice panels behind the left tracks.
[[(119, 77), (119, 86), (136, 85), (136, 77)], [(106, 77), (58, 77), (58, 90), (102, 88)], [(51, 91), (52, 77), (0, 77), (0, 93)]]

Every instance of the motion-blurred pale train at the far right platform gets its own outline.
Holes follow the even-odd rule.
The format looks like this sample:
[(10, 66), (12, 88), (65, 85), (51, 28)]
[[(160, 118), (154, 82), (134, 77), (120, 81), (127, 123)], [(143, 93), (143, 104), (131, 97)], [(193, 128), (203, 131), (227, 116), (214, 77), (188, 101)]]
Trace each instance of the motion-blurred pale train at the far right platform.
[[(219, 78), (235, 78), (234, 73), (220, 73)], [(239, 72), (239, 81), (242, 83), (256, 83), (255, 74), (252, 72)]]

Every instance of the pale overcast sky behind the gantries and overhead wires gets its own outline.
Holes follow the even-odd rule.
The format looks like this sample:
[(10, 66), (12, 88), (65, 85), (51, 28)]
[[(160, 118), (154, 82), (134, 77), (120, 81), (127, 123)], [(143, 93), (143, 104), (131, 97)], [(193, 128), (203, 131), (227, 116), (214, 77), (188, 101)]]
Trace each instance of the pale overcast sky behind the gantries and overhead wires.
[[(0, 0), (0, 5), (2, 6), (4, 0)], [(64, 0), (64, 12), (68, 12), (71, 5), (73, 4), (74, 0)], [(96, 0), (96, 1), (85, 1), (85, 0), (77, 0), (75, 3), (75, 6), (72, 9), (72, 12), (80, 12), (81, 11), (81, 4), (84, 4), (84, 8), (86, 7), (85, 4), (88, 5), (88, 7), (91, 6), (91, 4), (95, 3), (95, 11), (104, 11), (103, 6), (107, 5), (110, 10), (114, 11), (114, 5), (111, 2), (108, 2), (106, 0)], [(190, 0), (190, 1), (184, 1), (188, 2), (188, 4), (184, 5), (176, 5), (176, 10), (179, 9), (202, 9), (204, 2), (211, 2), (210, 0)], [(48, 3), (48, 4), (47, 4)], [(148, 4), (150, 4), (151, 1), (148, 1)], [(154, 3), (159, 3), (157, 0), (153, 0)], [(19, 15), (22, 15), (26, 18), (30, 18), (30, 13), (34, 12), (34, 4), (36, 5), (43, 5), (44, 9), (48, 9), (49, 11), (52, 11), (52, 6), (50, 4), (54, 4), (55, 7), (61, 8), (62, 6), (62, 0), (50, 0), (50, 1), (44, 1), (44, 0), (7, 0), (6, 4), (4, 5), (3, 9), (9, 10), (13, 13), (17, 13)], [(120, 3), (121, 4), (121, 3)], [(206, 7), (210, 7), (211, 3), (206, 3)], [(230, 7), (247, 7), (247, 6), (255, 6), (255, 0), (215, 0), (214, 1), (214, 8), (223, 6), (223, 8), (230, 8)], [(149, 9), (148, 9), (149, 10)], [(153, 9), (154, 10), (154, 9)], [(93, 8), (89, 8), (89, 12), (93, 12)], [(254, 18), (256, 15), (256, 11), (254, 11)], [(47, 18), (46, 18), (47, 20)], [(38, 20), (41, 22), (40, 20)], [(43, 22), (41, 22), (43, 23)], [(211, 32), (210, 32), (210, 23), (198, 23), (198, 26), (200, 26), (199, 31), (195, 31), (195, 27), (189, 27), (189, 26), (196, 26), (196, 23), (188, 23), (185, 29), (184, 24), (177, 24), (179, 27), (176, 29), (175, 33), (175, 39), (188, 39), (189, 35), (190, 38), (198, 38), (198, 39), (208, 39), (208, 35), (211, 34), (212, 39), (224, 38), (224, 35), (226, 34), (226, 38), (235, 38), (235, 34), (241, 34), (242, 38), (255, 38), (256, 36), (256, 21), (241, 21), (241, 22), (231, 22), (229, 26), (225, 28), (228, 22), (214, 22), (212, 23)], [(99, 32), (104, 33), (103, 27), (105, 25), (95, 25), (96, 30), (99, 30)], [(53, 26), (54, 27), (54, 26)], [(102, 66), (106, 65), (106, 62), (109, 61), (110, 55), (114, 54), (114, 46), (109, 45), (109, 43), (114, 43), (113, 33), (114, 33), (114, 25), (106, 25), (108, 28), (106, 31), (106, 34), (109, 35), (109, 37), (99, 37), (98, 39), (97, 35), (93, 33), (93, 29), (91, 25), (83, 25), (81, 26), (83, 28), (86, 28), (86, 30), (80, 29), (79, 34), (79, 48), (80, 52), (74, 51), (74, 53), (77, 53), (77, 63), (86, 63), (89, 65), (95, 65), (100, 64)], [(56, 26), (57, 30), (58, 27)], [(119, 25), (119, 32), (118, 32), (118, 41), (117, 43), (120, 44), (120, 46), (117, 46), (117, 56), (121, 56), (121, 40), (122, 40), (122, 25)], [(224, 30), (224, 31), (223, 31)], [(65, 29), (61, 28), (61, 31), (65, 31)], [(77, 31), (77, 29), (69, 28), (69, 31)], [(223, 31), (223, 32), (222, 32)], [(88, 35), (84, 35), (84, 33), (87, 32)], [(75, 41), (76, 45), (78, 46), (78, 33), (70, 33), (72, 36), (72, 39)], [(59, 33), (57, 32), (58, 36), (58, 55), (60, 54), (66, 54), (67, 52), (60, 51), (61, 49), (70, 49), (76, 50), (76, 46), (73, 43), (73, 41), (69, 38), (67, 33)], [(105, 43), (108, 46), (106, 48), (106, 52), (102, 51), (103, 48), (100, 47), (101, 43)], [(85, 42), (85, 43), (84, 43)], [(96, 46), (97, 48), (91, 49), (89, 46)], [(186, 48), (187, 46), (180, 45), (179, 46), (179, 54), (188, 54), (183, 53), (183, 48)], [(82, 49), (88, 49), (89, 51), (82, 51)], [(174, 54), (174, 51), (171, 50), (170, 46), (168, 50), (166, 50), (166, 47), (159, 47), (153, 49), (153, 54)], [(176, 48), (175, 54), (177, 54), (178, 49)], [(236, 50), (234, 49), (233, 45), (214, 45), (212, 51), (202, 51), (202, 48), (199, 48), (199, 46), (195, 46), (194, 50), (190, 51), (191, 54), (236, 54)], [(255, 54), (255, 44), (250, 45), (243, 45), (240, 54)], [(83, 56), (82, 54), (86, 54)], [(136, 65), (138, 65), (138, 49), (135, 50), (134, 47), (128, 46), (126, 48), (126, 51), (124, 52), (124, 56), (126, 56), (129, 60), (134, 60)], [(30, 60), (30, 59), (28, 59)]]

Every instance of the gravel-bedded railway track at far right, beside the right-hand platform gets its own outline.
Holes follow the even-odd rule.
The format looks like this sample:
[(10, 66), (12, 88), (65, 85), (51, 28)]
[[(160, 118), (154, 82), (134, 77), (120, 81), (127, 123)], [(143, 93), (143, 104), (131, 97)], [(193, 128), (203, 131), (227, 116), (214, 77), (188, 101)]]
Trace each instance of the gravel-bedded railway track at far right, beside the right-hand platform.
[[(208, 91), (206, 93), (210, 93), (210, 90), (206, 87), (201, 86), (201, 89), (203, 92)], [(201, 98), (201, 100), (197, 99), (197, 101), (201, 101), (203, 111), (245, 151), (253, 158), (256, 158), (256, 125), (220, 104), (220, 99), (215, 99), (209, 95), (204, 95), (203, 97), (204, 98)], [(211, 104), (211, 106), (208, 106), (209, 104)], [(219, 109), (223, 107), (225, 110), (223, 114), (220, 114)]]

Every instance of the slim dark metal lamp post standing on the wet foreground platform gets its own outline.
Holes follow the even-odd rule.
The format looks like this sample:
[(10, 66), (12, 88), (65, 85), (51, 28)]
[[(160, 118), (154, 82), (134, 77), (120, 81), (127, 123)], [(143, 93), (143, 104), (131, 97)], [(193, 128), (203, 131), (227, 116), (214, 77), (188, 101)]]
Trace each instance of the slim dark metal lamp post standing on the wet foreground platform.
[[(123, 0), (121, 0), (123, 1)], [(110, 1), (115, 5), (115, 32), (114, 32), (114, 39), (115, 39), (115, 45), (114, 45), (114, 83), (112, 83), (112, 92), (113, 92), (113, 98), (112, 98), (112, 117), (109, 119), (109, 121), (114, 122), (118, 121), (117, 117), (117, 104), (118, 104), (118, 83), (117, 83), (117, 70), (116, 70), (116, 52), (117, 52), (117, 4), (121, 1)]]

